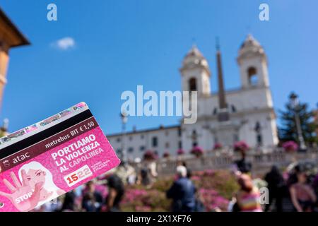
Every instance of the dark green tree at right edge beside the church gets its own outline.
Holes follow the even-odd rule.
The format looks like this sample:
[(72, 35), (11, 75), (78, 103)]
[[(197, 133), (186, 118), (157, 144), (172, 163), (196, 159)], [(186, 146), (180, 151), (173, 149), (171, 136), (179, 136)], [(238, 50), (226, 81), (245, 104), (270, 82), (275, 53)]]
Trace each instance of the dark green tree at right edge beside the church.
[[(290, 97), (297, 97), (294, 93)], [(296, 125), (295, 114), (300, 119), (300, 128), (302, 136), (306, 143), (317, 142), (317, 124), (314, 122), (314, 111), (309, 109), (307, 103), (299, 102), (293, 106), (291, 102), (285, 104), (285, 110), (279, 111), (282, 126), (278, 129), (279, 138), (281, 141), (295, 141), (299, 143), (298, 131)]]

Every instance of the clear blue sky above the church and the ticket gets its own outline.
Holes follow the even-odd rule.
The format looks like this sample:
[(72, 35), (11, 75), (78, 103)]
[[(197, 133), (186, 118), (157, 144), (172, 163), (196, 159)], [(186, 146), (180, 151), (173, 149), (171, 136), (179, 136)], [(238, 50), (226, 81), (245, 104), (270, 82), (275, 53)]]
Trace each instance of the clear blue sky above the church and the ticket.
[[(47, 20), (57, 4), (58, 20)], [(259, 20), (259, 4), (270, 20)], [(215, 37), (220, 38), (227, 89), (240, 86), (235, 58), (248, 32), (264, 46), (276, 110), (290, 91), (315, 107), (318, 30), (315, 0), (4, 0), (1, 8), (32, 45), (11, 50), (0, 119), (10, 131), (87, 102), (105, 133), (120, 131), (124, 90), (179, 90), (179, 67), (193, 40), (212, 71), (216, 91)], [(71, 37), (70, 49), (57, 40)], [(55, 43), (55, 44), (54, 44)], [(167, 82), (169, 81), (169, 82)], [(177, 124), (177, 117), (130, 117), (128, 128)]]

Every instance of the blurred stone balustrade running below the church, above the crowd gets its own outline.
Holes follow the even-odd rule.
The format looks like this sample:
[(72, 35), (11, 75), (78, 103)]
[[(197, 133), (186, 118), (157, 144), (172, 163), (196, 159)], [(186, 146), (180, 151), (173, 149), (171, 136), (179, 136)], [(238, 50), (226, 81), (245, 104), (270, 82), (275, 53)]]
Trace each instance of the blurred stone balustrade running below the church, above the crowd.
[[(168, 157), (157, 160), (158, 174), (170, 175), (175, 173), (177, 163), (182, 161), (187, 164), (192, 171), (201, 171), (204, 169), (231, 169), (233, 162), (240, 159), (239, 153), (223, 153), (214, 151), (205, 153), (200, 157), (194, 155), (181, 155), (177, 157)], [(287, 167), (295, 161), (312, 161), (318, 163), (318, 149), (310, 149), (304, 153), (286, 153), (283, 150), (273, 150), (267, 153), (258, 153), (249, 150), (247, 161), (252, 162), (252, 174), (264, 174), (271, 169), (272, 165), (278, 167)], [(135, 165), (137, 167), (137, 165)]]

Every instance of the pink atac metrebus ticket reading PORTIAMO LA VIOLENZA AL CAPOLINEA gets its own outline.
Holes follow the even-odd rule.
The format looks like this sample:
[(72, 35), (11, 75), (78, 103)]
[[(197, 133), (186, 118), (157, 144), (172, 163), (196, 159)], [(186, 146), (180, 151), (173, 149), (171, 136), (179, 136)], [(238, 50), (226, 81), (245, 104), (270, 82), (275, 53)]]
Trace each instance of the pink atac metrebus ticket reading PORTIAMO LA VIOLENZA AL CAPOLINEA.
[(81, 102), (0, 139), (0, 211), (30, 211), (120, 160)]

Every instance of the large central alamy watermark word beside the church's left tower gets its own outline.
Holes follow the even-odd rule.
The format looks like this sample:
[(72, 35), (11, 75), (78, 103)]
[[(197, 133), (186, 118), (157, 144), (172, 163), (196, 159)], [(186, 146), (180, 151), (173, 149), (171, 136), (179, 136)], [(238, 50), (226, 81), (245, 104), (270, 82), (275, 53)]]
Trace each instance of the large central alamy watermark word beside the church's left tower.
[(137, 85), (136, 95), (126, 90), (121, 95), (121, 112), (129, 116), (183, 116), (184, 124), (197, 120), (197, 91), (155, 91), (143, 92), (143, 85)]

